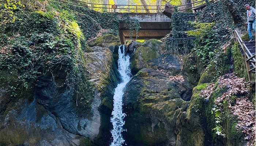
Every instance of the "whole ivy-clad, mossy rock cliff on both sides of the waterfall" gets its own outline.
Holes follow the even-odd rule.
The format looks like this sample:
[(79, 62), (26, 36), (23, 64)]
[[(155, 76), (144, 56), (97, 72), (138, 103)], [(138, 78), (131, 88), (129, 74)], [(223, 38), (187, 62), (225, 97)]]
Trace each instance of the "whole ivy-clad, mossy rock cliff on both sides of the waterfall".
[[(115, 14), (54, 1), (50, 8), (36, 7), (41, 9), (26, 13), (20, 7), (14, 12), (22, 19), (3, 23), (0, 145), (108, 146), (120, 82)], [(217, 13), (200, 15), (206, 14), (207, 20), (219, 19)], [(195, 15), (177, 13), (173, 19)], [(175, 34), (178, 28), (192, 29), (180, 19), (172, 25), (171, 37), (184, 37)], [(191, 40), (175, 38), (173, 46), (156, 39), (126, 46), (133, 74), (123, 97), (126, 145), (255, 145), (255, 84), (240, 78), (246, 74), (237, 45), (216, 46), (229, 42), (227, 29), (218, 35), (223, 30), (206, 33), (195, 48)], [(240, 58), (235, 68), (233, 58)]]

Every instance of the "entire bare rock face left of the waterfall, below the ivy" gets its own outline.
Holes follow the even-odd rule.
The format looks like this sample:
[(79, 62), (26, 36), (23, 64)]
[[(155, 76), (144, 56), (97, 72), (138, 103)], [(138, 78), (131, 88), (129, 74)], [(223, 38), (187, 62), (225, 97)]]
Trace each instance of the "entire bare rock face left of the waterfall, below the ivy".
[[(95, 46), (91, 50), (93, 52), (84, 53), (83, 56), (84, 64), (87, 65), (84, 69), (88, 73), (84, 76), (87, 76), (87, 83), (91, 82), (90, 86), (93, 85), (95, 89), (93, 95), (90, 95), (91, 108), (81, 114), (74, 100), (73, 87), (57, 87), (56, 82), (62, 79), (53, 79), (51, 76), (39, 78), (34, 89), (27, 91), (26, 95), (29, 96), (15, 100), (9, 100), (10, 95), (1, 89), (0, 145), (77, 146), (89, 139), (101, 143), (99, 145), (108, 145), (110, 137), (106, 135), (110, 131), (111, 113), (106, 114), (100, 110), (105, 112), (112, 108), (113, 99), (109, 96), (112, 96), (117, 84), (117, 73), (113, 71), (110, 49)], [(103, 129), (107, 131), (105, 135), (102, 135)]]

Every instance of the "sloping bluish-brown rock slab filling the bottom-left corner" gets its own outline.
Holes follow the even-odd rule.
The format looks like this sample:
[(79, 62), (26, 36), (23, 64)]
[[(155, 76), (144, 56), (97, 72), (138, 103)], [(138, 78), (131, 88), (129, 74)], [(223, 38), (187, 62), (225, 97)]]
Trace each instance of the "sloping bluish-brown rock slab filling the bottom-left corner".
[(33, 101), (20, 98), (7, 105), (0, 120), (1, 145), (79, 145), (83, 137), (65, 130), (61, 120), (37, 101), (34, 96)]

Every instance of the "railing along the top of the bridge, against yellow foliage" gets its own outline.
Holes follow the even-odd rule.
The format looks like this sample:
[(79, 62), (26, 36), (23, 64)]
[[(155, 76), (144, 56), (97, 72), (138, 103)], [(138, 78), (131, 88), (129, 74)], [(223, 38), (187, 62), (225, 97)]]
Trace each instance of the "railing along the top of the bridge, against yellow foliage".
[[(80, 5), (83, 7), (88, 7), (95, 11), (105, 11), (105, 12), (120, 12), (120, 13), (157, 13), (161, 12), (165, 5), (112, 5), (112, 4), (96, 4), (96, 3), (87, 3), (79, 0), (58, 0), (64, 3)], [(212, 0), (209, 3), (215, 2), (217, 0)], [(198, 5), (199, 4), (199, 5)], [(178, 11), (184, 11), (187, 9), (192, 9), (193, 11), (197, 8), (202, 8), (206, 6), (205, 0), (196, 0), (189, 4), (176, 5), (176, 7), (182, 7), (185, 5), (192, 5), (192, 7), (179, 9)]]

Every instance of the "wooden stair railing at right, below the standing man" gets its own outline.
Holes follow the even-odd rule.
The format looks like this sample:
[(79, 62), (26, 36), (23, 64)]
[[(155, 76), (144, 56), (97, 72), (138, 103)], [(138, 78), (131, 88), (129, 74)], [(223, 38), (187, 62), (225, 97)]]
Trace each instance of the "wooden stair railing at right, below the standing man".
[[(233, 31), (234, 42), (238, 42), (244, 51), (245, 65), (248, 73), (249, 81), (252, 81), (252, 73), (255, 73), (255, 54), (252, 55), (251, 51), (247, 48), (244, 41), (242, 41), (240, 35), (236, 30)], [(252, 65), (252, 69), (250, 67)]]

